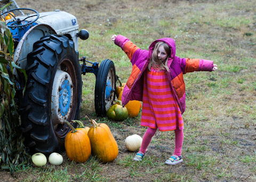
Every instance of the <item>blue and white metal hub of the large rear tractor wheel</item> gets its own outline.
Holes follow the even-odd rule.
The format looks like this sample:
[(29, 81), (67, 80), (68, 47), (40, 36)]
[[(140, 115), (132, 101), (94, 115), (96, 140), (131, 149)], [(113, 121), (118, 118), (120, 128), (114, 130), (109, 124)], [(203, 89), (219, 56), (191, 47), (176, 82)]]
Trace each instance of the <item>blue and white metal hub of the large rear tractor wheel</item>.
[(73, 102), (73, 84), (67, 72), (57, 70), (52, 86), (52, 123), (58, 125), (70, 114)]

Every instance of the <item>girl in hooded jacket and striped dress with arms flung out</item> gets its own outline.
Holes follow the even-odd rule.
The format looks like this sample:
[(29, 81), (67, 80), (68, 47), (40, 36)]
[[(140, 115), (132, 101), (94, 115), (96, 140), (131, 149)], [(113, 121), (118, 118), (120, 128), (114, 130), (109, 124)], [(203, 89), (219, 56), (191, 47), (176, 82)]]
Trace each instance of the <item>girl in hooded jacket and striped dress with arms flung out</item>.
[(140, 151), (133, 160), (141, 161), (157, 128), (161, 132), (175, 132), (175, 150), (165, 161), (177, 164), (183, 161), (182, 114), (186, 108), (183, 74), (194, 71), (215, 71), (217, 65), (211, 60), (189, 59), (175, 56), (175, 42), (171, 38), (155, 40), (149, 50), (141, 50), (124, 36), (112, 36), (132, 63), (132, 73), (122, 94), (123, 105), (130, 100), (143, 102), (141, 126), (148, 126)]

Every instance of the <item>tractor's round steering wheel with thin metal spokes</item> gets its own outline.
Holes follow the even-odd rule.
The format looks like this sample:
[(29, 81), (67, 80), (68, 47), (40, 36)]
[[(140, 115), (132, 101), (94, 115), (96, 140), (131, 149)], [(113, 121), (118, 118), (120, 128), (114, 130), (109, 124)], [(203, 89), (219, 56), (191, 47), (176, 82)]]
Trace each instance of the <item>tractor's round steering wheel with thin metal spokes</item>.
[[(34, 23), (39, 18), (39, 13), (36, 10), (30, 9), (30, 8), (15, 8), (15, 9), (6, 11), (3, 14), (9, 13), (9, 12), (12, 12), (12, 11), (15, 11), (15, 10), (30, 10), (30, 11), (34, 11), (36, 13), (36, 15), (31, 15), (31, 16), (28, 16), (27, 18), (23, 19), (23, 20), (20, 20), (20, 18), (16, 19), (15, 16), (13, 16), (10, 13), (13, 16), (13, 18), (15, 19), (15, 21), (13, 21), (11, 24), (7, 25), (7, 27), (9, 27), (9, 28), (24, 27), (24, 26), (27, 26), (27, 25), (29, 25), (31, 23)], [(3, 15), (3, 14), (1, 14), (1, 15)], [(24, 21), (24, 20), (26, 20), (26, 19), (28, 19), (30, 17), (33, 17), (33, 16), (36, 16), (36, 18), (33, 21), (29, 21), (29, 22), (27, 22), (25, 24), (21, 24), (21, 21)]]

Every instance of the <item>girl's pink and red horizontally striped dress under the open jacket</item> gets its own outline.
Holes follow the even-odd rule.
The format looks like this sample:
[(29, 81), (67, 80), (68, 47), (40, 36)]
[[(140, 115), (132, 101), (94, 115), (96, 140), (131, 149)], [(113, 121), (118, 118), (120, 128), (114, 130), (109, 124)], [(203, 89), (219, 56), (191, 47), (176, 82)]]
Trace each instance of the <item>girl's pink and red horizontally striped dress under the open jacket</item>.
[(183, 119), (177, 99), (171, 89), (165, 70), (151, 67), (144, 73), (141, 126), (159, 131), (183, 129)]

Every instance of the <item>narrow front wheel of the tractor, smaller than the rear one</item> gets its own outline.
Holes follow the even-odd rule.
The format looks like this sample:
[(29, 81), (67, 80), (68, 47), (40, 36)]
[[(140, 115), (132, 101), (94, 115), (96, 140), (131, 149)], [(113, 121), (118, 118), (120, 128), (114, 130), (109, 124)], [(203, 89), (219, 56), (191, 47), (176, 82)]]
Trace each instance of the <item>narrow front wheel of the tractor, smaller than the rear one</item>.
[(94, 93), (95, 112), (98, 116), (106, 116), (115, 100), (116, 70), (112, 60), (101, 62), (97, 74)]

